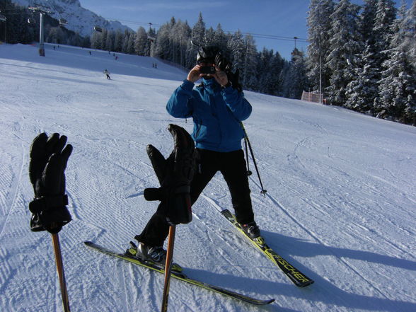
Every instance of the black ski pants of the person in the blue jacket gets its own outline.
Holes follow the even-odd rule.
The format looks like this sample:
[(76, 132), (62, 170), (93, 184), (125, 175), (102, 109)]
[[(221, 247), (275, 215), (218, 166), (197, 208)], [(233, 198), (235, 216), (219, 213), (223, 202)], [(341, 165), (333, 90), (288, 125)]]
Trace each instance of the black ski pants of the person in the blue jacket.
[[(226, 153), (206, 149), (196, 151), (197, 168), (195, 168), (194, 178), (190, 185), (192, 204), (200, 197), (202, 190), (212, 180), (215, 173), (220, 171), (229, 187), (237, 221), (241, 224), (254, 221), (243, 150)], [(166, 217), (156, 211), (136, 239), (146, 245), (162, 246), (168, 232), (169, 224), (166, 222)]]

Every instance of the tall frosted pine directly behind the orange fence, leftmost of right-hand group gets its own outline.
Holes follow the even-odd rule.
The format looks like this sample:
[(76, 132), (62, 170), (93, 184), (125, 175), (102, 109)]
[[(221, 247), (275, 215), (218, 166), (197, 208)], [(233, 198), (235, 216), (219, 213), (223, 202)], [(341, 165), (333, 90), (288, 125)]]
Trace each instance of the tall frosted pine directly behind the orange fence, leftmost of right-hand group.
[[(314, 90), (319, 89), (320, 76), (322, 88), (329, 86), (330, 69), (325, 64), (329, 54), (329, 34), (332, 28), (330, 16), (334, 11), (333, 0), (311, 0), (308, 11), (308, 78)], [(320, 75), (321, 74), (321, 75)]]

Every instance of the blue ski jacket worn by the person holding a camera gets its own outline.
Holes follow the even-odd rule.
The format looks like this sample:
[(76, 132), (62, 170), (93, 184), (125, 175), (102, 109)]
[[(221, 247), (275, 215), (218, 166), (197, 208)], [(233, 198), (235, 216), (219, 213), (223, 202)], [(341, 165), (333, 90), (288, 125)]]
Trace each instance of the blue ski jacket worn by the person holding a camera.
[(194, 86), (183, 81), (168, 100), (168, 113), (178, 118), (192, 117), (192, 139), (197, 148), (221, 152), (241, 149), (244, 132), (240, 123), (252, 110), (243, 93), (232, 86), (222, 88), (215, 79), (203, 79), (195, 90)]

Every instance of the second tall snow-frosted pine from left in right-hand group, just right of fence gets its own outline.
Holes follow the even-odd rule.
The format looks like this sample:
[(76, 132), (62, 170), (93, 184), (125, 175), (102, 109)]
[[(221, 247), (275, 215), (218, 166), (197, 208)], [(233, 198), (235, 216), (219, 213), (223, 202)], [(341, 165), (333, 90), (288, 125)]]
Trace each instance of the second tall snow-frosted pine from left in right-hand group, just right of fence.
[(361, 51), (358, 31), (359, 6), (340, 0), (330, 15), (329, 51), (325, 64), (330, 69), (330, 85), (325, 88), (330, 105), (345, 105), (347, 84), (354, 80), (354, 62)]

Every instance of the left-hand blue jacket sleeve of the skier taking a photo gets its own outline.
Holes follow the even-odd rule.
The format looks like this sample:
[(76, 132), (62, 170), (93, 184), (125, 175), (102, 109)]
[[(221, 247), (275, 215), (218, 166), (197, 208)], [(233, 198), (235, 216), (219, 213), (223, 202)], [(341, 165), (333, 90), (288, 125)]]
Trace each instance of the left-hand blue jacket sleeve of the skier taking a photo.
[(176, 118), (187, 118), (192, 116), (192, 89), (195, 86), (190, 81), (183, 83), (172, 93), (166, 104), (169, 115)]

